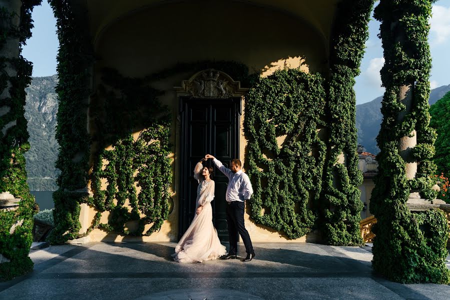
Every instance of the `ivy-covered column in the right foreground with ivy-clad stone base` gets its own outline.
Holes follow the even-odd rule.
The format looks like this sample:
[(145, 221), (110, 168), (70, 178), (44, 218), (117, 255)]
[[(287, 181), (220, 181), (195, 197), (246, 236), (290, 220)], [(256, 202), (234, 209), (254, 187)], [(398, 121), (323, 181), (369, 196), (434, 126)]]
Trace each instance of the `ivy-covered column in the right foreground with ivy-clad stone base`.
[(450, 282), (445, 265), (448, 225), (444, 213), (432, 208), (438, 206), (433, 204), (431, 161), (436, 133), (428, 126), (432, 2), (381, 0), (375, 8), (375, 18), (381, 21), (381, 80), (386, 91), (377, 137), (378, 175), (370, 201), (377, 219), (372, 227), (373, 268), (405, 283)]

